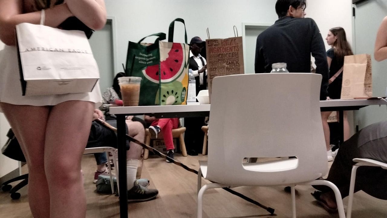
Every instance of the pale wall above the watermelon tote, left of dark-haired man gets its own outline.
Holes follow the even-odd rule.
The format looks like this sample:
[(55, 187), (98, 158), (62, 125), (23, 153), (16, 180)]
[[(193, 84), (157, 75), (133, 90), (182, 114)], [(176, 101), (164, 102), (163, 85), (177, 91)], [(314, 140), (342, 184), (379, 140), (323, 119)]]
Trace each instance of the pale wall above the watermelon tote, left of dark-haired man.
[[(116, 18), (117, 69), (126, 62), (128, 41), (137, 42), (152, 33), (164, 32), (168, 37), (170, 22), (183, 18), (188, 43), (194, 36), (207, 39), (234, 36), (233, 26), (242, 34), (242, 22), (274, 23), (278, 18), (276, 0), (106, 0), (108, 16)], [(180, 23), (175, 24), (175, 42), (183, 42)], [(146, 42), (154, 41), (155, 37)]]

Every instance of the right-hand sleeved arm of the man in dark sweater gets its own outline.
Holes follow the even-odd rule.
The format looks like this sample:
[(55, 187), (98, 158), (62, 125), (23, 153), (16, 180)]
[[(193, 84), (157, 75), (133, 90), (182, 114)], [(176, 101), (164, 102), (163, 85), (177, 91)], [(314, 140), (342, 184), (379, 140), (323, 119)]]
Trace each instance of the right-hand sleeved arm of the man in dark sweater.
[(325, 52), (324, 41), (322, 40), (319, 28), (317, 27), (317, 24), (313, 20), (312, 20), (311, 29), (312, 29), (311, 52), (312, 52), (312, 56), (315, 58), (316, 73), (322, 75), (320, 100), (326, 100), (328, 97), (328, 84), (329, 84), (328, 83), (329, 68), (328, 68), (328, 61), (327, 61), (327, 53)]

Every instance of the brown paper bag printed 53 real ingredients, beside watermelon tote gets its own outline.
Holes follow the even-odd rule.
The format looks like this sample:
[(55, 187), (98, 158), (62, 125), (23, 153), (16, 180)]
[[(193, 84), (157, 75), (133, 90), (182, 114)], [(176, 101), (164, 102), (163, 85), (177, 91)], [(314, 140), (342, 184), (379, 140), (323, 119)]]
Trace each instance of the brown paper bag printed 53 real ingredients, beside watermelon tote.
[(205, 40), (207, 78), (211, 100), (212, 80), (216, 76), (244, 74), (242, 37)]

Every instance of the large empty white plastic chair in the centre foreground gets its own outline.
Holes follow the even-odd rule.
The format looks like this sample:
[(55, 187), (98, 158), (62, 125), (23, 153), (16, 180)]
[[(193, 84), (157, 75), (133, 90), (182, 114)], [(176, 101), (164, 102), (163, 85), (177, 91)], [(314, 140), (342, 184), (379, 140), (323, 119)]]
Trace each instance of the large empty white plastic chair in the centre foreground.
[[(237, 186), (327, 185), (327, 153), (320, 115), (322, 76), (312, 73), (265, 73), (220, 76), (212, 82), (208, 161), (199, 161), (197, 217), (202, 218), (205, 190)], [(293, 157), (275, 159), (275, 157)], [(274, 161), (243, 163), (247, 157)], [(201, 176), (213, 181), (201, 187)]]

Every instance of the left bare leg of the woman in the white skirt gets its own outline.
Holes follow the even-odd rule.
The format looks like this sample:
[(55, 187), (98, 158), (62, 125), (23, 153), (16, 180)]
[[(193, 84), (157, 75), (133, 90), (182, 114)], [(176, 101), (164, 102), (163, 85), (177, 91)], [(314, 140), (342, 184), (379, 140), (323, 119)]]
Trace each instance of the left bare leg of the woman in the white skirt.
[[(45, 132), (49, 107), (0, 103), (19, 141), (28, 166), (28, 199), (33, 217), (50, 217), (50, 194), (44, 170)], [(43, 206), (44, 205), (44, 206)]]

